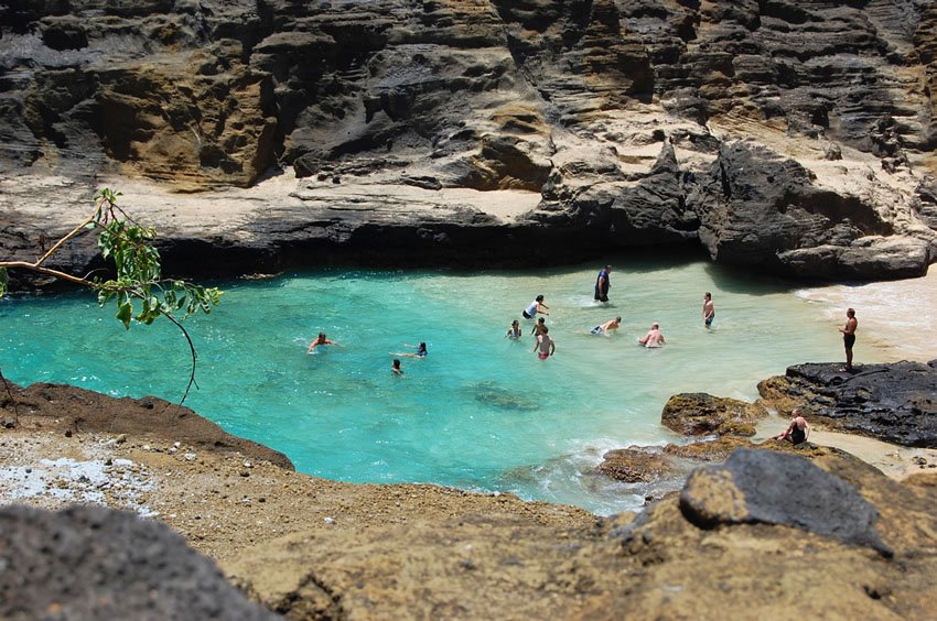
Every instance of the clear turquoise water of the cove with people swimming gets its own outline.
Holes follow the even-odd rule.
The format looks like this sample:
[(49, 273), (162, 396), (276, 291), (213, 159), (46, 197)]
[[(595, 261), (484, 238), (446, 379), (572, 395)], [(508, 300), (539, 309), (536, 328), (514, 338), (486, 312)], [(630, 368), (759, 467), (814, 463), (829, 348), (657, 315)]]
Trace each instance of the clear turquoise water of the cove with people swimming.
[[(774, 281), (704, 262), (620, 260), (612, 303), (592, 301), (597, 264), (525, 272), (327, 270), (218, 283), (211, 315), (187, 327), (198, 351), (186, 405), (225, 429), (286, 453), (297, 468), (344, 481), (416, 481), (574, 503), (639, 506), (640, 486), (591, 473), (601, 455), (675, 438), (660, 426), (671, 394), (753, 399), (793, 363), (841, 356), (822, 304)], [(713, 293), (713, 331), (702, 294)], [(504, 337), (538, 293), (557, 355)], [(618, 334), (589, 329), (622, 315)], [(159, 322), (125, 331), (86, 294), (0, 303), (3, 373), (111, 395), (179, 400), (187, 347)], [(668, 345), (637, 347), (651, 322)], [(159, 325), (163, 324), (163, 325)], [(343, 347), (306, 355), (320, 331)], [(429, 357), (388, 352), (427, 341)]]

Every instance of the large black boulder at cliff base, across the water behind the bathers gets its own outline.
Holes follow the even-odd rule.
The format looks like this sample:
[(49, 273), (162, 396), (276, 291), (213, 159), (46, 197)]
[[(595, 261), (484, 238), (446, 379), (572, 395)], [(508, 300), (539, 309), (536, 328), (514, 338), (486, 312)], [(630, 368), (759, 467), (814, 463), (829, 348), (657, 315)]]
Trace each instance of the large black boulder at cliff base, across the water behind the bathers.
[(894, 229), (871, 205), (815, 186), (804, 166), (752, 143), (723, 145), (689, 203), (700, 240), (730, 264), (884, 279), (924, 275), (930, 261), (928, 242), (883, 243)]

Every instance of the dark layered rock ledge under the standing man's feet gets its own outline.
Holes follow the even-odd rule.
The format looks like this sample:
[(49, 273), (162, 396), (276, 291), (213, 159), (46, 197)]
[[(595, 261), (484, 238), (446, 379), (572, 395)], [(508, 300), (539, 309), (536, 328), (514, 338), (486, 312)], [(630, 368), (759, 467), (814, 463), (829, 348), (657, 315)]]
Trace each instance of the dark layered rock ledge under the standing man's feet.
[(758, 384), (762, 397), (801, 405), (836, 429), (904, 446), (937, 447), (937, 360), (863, 364), (798, 364)]

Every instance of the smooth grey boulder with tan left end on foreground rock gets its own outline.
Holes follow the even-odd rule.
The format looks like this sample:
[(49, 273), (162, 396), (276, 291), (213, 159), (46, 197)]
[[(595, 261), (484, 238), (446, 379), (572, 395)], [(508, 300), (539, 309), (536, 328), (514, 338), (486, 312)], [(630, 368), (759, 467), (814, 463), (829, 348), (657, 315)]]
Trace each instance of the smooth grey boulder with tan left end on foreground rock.
[(855, 488), (797, 455), (740, 448), (724, 464), (690, 475), (680, 510), (701, 529), (780, 524), (892, 555), (875, 531), (875, 508)]

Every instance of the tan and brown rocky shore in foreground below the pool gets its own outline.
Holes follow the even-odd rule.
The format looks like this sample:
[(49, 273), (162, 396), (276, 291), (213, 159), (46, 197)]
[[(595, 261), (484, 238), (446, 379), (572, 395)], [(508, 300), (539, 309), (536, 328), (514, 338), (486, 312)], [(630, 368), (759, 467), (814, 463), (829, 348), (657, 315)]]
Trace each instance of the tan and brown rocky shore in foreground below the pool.
[[(671, 400), (664, 420), (709, 442), (661, 454), (712, 466), (692, 470), (686, 483), (691, 468), (682, 469), (674, 493), (610, 519), (510, 494), (325, 481), (154, 400), (12, 390), (21, 401), (17, 425), (0, 432), (4, 502), (61, 509), (77, 501), (148, 515), (288, 618), (608, 618), (621, 610), (890, 618), (926, 615), (937, 595), (935, 470), (922, 465), (897, 482), (810, 443), (760, 450), (747, 438), (758, 410), (780, 403), (776, 385), (774, 401), (754, 406), (709, 395)], [(12, 421), (9, 397), (2, 406)], [(740, 453), (744, 446), (752, 448)], [(660, 467), (644, 460), (631, 471), (647, 478)], [(668, 466), (666, 476), (674, 473)], [(18, 519), (9, 512), (0, 512), (4, 523)], [(109, 520), (58, 515), (36, 523), (85, 533), (88, 520)], [(172, 595), (165, 582), (153, 585), (160, 597)], [(82, 588), (78, 599), (94, 592)], [(8, 601), (21, 611), (46, 601), (29, 593)], [(79, 610), (68, 608), (78, 599), (56, 604)], [(126, 610), (133, 606), (128, 600)]]

